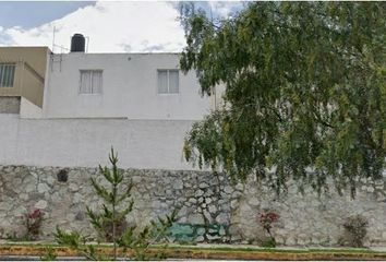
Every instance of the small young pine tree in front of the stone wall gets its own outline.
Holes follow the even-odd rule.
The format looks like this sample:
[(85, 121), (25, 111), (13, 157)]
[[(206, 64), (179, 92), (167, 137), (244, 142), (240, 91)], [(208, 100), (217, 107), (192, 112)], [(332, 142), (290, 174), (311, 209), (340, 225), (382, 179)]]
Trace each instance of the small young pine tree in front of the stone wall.
[[(133, 250), (135, 253), (134, 259), (149, 259), (147, 255), (148, 248), (169, 234), (168, 229), (177, 221), (178, 212), (173, 211), (166, 218), (158, 217), (158, 222), (152, 222), (149, 226), (144, 227), (140, 231), (136, 230), (136, 225), (122, 226), (122, 222), (125, 222), (125, 217), (133, 210), (134, 201), (131, 195), (133, 183), (130, 181), (125, 186), (122, 184), (124, 177), (123, 172), (117, 166), (118, 155), (113, 148), (111, 148), (109, 160), (111, 168), (109, 169), (99, 165), (99, 171), (110, 187), (101, 186), (95, 178), (91, 179), (97, 195), (104, 200), (101, 212), (95, 212), (87, 206), (86, 213), (99, 236), (105, 236), (107, 240), (112, 241), (113, 257), (106, 258), (98, 254), (95, 246), (86, 245), (86, 238), (80, 233), (65, 233), (57, 227), (55, 237), (58, 243), (77, 250), (88, 260), (117, 260), (118, 247), (122, 248), (123, 253), (126, 253), (128, 249)], [(157, 258), (161, 259), (162, 257)]]

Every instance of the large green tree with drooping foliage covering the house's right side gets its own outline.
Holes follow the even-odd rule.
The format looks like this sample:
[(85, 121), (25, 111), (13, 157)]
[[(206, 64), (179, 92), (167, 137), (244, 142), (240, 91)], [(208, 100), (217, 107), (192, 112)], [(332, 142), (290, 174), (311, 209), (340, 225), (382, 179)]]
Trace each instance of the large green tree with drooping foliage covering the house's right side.
[(193, 126), (186, 159), (276, 189), (354, 193), (386, 156), (386, 3), (254, 2), (226, 20), (183, 9), (183, 71), (225, 106)]

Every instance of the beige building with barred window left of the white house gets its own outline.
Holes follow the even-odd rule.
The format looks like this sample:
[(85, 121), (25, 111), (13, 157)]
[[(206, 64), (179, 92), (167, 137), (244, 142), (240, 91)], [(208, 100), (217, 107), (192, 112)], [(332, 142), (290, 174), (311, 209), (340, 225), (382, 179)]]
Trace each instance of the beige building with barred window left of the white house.
[(43, 107), (47, 47), (0, 47), (0, 112), (16, 114), (21, 104)]

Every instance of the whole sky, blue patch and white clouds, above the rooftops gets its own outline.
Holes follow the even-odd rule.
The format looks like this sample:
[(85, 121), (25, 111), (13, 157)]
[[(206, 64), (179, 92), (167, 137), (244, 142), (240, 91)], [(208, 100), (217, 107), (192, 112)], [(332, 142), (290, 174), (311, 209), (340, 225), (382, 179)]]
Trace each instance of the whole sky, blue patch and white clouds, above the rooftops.
[[(242, 2), (196, 2), (214, 16), (238, 11)], [(0, 46), (70, 48), (74, 33), (89, 37), (89, 52), (181, 51), (178, 2), (0, 2)], [(55, 52), (67, 49), (55, 48)]]

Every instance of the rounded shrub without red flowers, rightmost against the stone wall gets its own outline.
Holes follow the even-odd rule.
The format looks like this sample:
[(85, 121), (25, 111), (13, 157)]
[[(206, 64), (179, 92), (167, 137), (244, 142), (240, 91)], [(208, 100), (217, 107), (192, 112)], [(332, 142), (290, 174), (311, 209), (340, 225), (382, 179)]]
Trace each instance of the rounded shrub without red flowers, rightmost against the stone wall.
[(347, 218), (343, 224), (345, 233), (339, 239), (342, 246), (362, 248), (363, 240), (367, 234), (369, 222), (361, 215), (354, 215)]

